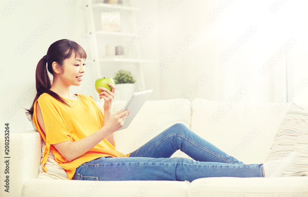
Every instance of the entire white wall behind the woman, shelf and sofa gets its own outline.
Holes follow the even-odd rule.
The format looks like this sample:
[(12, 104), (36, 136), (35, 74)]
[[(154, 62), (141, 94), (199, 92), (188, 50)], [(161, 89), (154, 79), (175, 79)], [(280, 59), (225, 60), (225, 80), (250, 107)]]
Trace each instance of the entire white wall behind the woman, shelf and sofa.
[[(21, 0), (6, 14), (3, 11), (12, 0), (0, 3), (0, 118), (1, 125), (10, 123), (11, 132), (32, 129), (22, 107), (30, 108), (33, 103), (36, 65), (48, 47), (63, 38), (77, 42), (85, 38), (85, 13), (80, 9), (83, 1), (75, 0), (68, 5), (67, 2), (69, 0)], [(156, 60), (143, 67), (146, 88), (154, 90), (149, 99), (228, 101), (244, 89), (245, 95), (237, 102), (283, 103), (288, 93), (288, 102), (306, 104), (308, 13), (305, 9), (308, 2), (284, 1), (272, 12), (270, 7), (275, 2), (277, 0), (136, 0), (135, 6), (141, 8), (136, 13), (138, 29), (144, 30), (148, 23), (154, 25), (140, 40), (141, 56)], [(208, 17), (223, 3), (225, 8), (209, 22)], [(251, 26), (257, 30), (223, 62), (221, 55), (239, 42), (239, 37)], [(40, 28), (43, 31), (38, 34)], [(18, 55), (16, 50), (26, 45), (32, 36), (35, 40)], [(264, 68), (289, 39), (296, 43), (261, 75), (260, 68)], [(88, 41), (82, 46), (90, 56)], [(83, 84), (72, 86), (71, 92), (87, 90), (87, 95), (96, 98), (91, 62), (86, 63)], [(125, 67), (137, 71), (134, 66), (120, 65), (120, 68)], [(102, 66), (102, 70), (102, 74), (109, 77), (116, 67), (108, 64)]]

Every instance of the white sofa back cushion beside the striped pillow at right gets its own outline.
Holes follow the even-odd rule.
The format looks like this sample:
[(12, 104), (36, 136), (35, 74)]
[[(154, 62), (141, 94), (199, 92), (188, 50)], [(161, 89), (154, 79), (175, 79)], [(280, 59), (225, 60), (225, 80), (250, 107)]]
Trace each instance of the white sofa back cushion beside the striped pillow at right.
[(192, 131), (246, 164), (263, 163), (291, 104), (242, 104), (197, 98)]

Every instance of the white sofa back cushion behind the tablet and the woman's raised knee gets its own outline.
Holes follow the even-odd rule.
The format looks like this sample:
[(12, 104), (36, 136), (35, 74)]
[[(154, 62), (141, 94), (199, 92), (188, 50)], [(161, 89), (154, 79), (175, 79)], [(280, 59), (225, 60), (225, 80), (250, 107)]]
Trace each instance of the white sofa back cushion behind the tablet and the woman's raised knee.
[[(111, 114), (121, 110), (126, 102), (113, 103)], [(103, 107), (103, 102), (97, 104), (99, 108)], [(115, 148), (124, 154), (130, 153), (176, 123), (190, 128), (191, 104), (188, 99), (146, 101), (128, 128), (114, 132)], [(176, 151), (172, 157), (188, 158), (188, 155)]]

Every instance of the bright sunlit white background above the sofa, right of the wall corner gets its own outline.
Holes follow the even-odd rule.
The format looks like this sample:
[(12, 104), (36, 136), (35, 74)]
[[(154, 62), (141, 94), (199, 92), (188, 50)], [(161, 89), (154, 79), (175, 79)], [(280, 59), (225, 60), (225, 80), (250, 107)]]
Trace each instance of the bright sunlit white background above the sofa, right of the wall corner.
[[(289, 96), (288, 102), (306, 103), (306, 7), (304, 0), (160, 0), (160, 65), (172, 52), (177, 55), (160, 71), (161, 98), (188, 93), (190, 101), (237, 97), (244, 103), (283, 103)], [(177, 53), (188, 35), (193, 42)], [(282, 47), (288, 50), (282, 53)], [(265, 68), (275, 56), (273, 66)], [(201, 76), (206, 81), (193, 88)], [(297, 87), (301, 90), (291, 94)]]

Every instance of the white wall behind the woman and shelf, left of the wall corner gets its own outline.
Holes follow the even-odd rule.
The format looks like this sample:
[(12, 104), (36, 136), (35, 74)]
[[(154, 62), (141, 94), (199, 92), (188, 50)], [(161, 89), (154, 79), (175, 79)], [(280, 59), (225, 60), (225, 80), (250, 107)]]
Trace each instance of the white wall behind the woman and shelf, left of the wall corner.
[[(25, 115), (22, 108), (30, 108), (36, 95), (35, 89), (35, 70), (39, 60), (46, 55), (48, 47), (60, 39), (70, 39), (79, 43), (86, 50), (88, 58), (91, 56), (89, 42), (85, 36), (87, 25), (85, 19), (82, 0), (75, 1), (14, 1), (3, 0), (0, 2), (0, 37), (1, 37), (1, 102), (0, 102), (0, 123), (10, 124), (10, 132), (23, 132), (32, 130), (32, 125)], [(71, 2), (68, 3), (67, 2)], [(156, 29), (149, 32), (144, 39), (140, 40), (140, 45), (146, 45), (142, 49), (142, 55), (148, 59), (158, 59), (158, 42), (156, 41), (158, 31), (156, 15), (156, 1), (144, 4), (140, 1), (139, 6), (145, 7), (137, 15), (140, 30), (145, 28), (147, 23), (154, 23)], [(150, 7), (148, 6), (150, 5)], [(13, 7), (13, 9), (8, 8)], [(8, 13), (3, 14), (8, 9)], [(4, 10), (4, 11), (3, 11)], [(152, 13), (152, 14), (149, 14)], [(141, 14), (141, 16), (140, 16)], [(45, 25), (45, 27), (44, 27)], [(38, 29), (42, 29), (39, 33)], [(28, 41), (33, 37), (32, 40)], [(82, 41), (81, 41), (82, 40)], [(81, 41), (81, 42), (80, 42)], [(29, 43), (27, 46), (27, 42)], [(25, 45), (25, 49), (21, 49)], [(16, 50), (23, 50), (17, 54)], [(83, 83), (80, 86), (72, 86), (71, 93), (83, 93), (87, 90), (87, 95), (92, 95), (99, 101), (98, 94), (93, 86), (93, 71), (91, 62), (87, 62)], [(119, 66), (119, 69), (122, 67)], [(125, 68), (125, 67), (124, 67)], [(154, 68), (154, 69), (153, 69)], [(114, 68), (109, 69), (108, 65), (102, 66), (102, 74), (110, 76)], [(134, 66), (129, 69), (134, 70)], [(160, 99), (160, 80), (155, 66), (147, 65), (144, 67), (147, 89), (153, 89), (153, 94), (149, 99)], [(1, 132), (2, 132), (1, 131)]]

